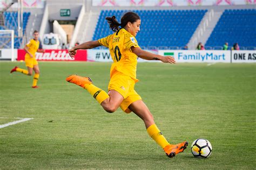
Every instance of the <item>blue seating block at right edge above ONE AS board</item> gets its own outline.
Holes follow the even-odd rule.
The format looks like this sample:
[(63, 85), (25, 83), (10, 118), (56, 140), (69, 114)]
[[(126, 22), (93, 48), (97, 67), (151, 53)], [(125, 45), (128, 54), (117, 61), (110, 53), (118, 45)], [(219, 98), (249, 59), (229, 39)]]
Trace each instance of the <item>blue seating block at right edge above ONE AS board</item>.
[(232, 46), (238, 42), (240, 49), (256, 46), (256, 10), (225, 10), (216, 24), (206, 46)]

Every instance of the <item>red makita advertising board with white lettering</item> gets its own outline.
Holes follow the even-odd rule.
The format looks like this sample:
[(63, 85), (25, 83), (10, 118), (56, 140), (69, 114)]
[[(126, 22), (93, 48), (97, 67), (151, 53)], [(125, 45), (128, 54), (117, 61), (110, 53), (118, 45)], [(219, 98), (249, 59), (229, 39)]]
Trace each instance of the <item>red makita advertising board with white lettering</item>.
[[(24, 49), (18, 49), (17, 60), (25, 60), (26, 52)], [(87, 61), (87, 51), (78, 50), (75, 58), (69, 56), (67, 49), (45, 49), (44, 53), (36, 53), (38, 61)]]

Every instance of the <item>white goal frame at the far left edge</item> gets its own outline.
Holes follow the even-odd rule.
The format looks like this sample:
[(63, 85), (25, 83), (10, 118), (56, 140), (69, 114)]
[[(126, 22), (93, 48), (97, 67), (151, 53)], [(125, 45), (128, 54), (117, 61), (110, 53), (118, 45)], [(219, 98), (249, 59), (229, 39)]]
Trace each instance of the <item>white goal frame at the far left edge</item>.
[(0, 50), (8, 50), (10, 49), (9, 56), (1, 56), (3, 59), (11, 59), (11, 61), (15, 61), (14, 58), (14, 30), (0, 30)]

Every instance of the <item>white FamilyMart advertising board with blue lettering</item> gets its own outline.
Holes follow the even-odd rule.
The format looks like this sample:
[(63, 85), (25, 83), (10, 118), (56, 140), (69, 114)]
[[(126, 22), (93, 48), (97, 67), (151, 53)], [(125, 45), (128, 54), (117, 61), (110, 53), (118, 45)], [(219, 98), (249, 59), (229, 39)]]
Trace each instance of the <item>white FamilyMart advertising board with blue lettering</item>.
[(159, 50), (158, 54), (173, 56), (176, 62), (231, 62), (230, 51), (223, 50)]

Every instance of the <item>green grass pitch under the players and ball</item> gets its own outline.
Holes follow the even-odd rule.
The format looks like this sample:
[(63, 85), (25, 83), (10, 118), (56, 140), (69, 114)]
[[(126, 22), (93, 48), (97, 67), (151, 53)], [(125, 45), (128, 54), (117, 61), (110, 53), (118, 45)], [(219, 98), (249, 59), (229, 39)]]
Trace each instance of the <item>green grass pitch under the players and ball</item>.
[[(170, 143), (188, 141), (170, 159), (134, 114), (105, 112), (86, 90), (65, 81), (90, 76), (107, 90), (111, 63), (39, 62), (32, 77), (10, 74), (22, 62), (0, 62), (0, 169), (255, 169), (256, 65), (138, 63), (136, 91)], [(197, 138), (208, 139), (207, 159), (193, 158)]]

